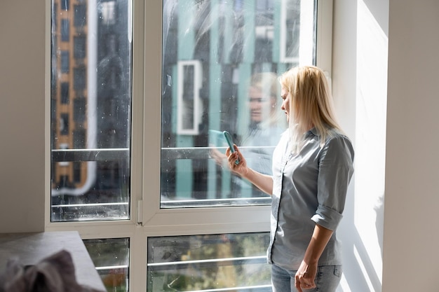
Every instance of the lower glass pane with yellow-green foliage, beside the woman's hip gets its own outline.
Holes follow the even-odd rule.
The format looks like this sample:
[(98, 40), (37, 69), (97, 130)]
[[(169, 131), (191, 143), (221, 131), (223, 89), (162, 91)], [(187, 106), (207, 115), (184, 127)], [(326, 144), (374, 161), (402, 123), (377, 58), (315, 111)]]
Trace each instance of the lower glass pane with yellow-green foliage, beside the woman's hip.
[(147, 291), (271, 291), (269, 234), (150, 237)]

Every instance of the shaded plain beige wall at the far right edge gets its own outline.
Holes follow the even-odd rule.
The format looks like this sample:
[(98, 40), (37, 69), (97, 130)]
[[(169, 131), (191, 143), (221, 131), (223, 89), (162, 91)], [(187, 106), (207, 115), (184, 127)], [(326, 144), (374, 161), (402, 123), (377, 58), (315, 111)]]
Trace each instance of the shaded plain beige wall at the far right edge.
[(438, 291), (439, 1), (389, 2), (383, 291)]

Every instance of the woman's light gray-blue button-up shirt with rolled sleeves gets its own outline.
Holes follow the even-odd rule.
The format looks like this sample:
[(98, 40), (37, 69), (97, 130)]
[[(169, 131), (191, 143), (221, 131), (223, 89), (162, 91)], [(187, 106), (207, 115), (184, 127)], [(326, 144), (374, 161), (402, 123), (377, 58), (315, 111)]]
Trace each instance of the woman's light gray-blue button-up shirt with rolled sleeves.
[(353, 174), (353, 147), (348, 137), (333, 130), (320, 146), (316, 129), (305, 134), (295, 155), (288, 150), (288, 131), (273, 153), (273, 195), (269, 263), (297, 270), (316, 223), (334, 230), (319, 265), (341, 265), (335, 232), (342, 220), (349, 181)]

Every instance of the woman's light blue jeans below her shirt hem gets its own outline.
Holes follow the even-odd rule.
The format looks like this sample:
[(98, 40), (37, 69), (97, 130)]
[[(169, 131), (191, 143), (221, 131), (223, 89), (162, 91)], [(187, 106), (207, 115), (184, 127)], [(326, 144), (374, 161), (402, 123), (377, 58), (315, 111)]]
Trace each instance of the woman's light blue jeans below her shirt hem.
[[(295, 270), (285, 270), (283, 267), (271, 265), (271, 284), (273, 292), (296, 292)], [(335, 292), (342, 278), (341, 265), (319, 265), (317, 269), (316, 288), (303, 289), (306, 292)]]

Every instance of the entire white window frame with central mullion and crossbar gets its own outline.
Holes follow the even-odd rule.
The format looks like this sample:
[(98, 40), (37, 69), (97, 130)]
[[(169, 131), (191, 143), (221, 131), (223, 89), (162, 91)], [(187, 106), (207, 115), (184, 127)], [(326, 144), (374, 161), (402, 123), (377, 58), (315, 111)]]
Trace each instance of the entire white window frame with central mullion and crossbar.
[[(331, 72), (332, 0), (320, 0), (316, 64)], [(50, 157), (50, 1), (46, 1), (46, 157)], [(269, 206), (160, 208), (162, 1), (133, 0), (133, 106), (130, 220), (50, 222), (46, 160), (46, 231), (76, 230), (83, 239), (130, 238), (130, 291), (146, 291), (147, 238), (269, 231)], [(166, 106), (166, 105), (164, 105)]]

